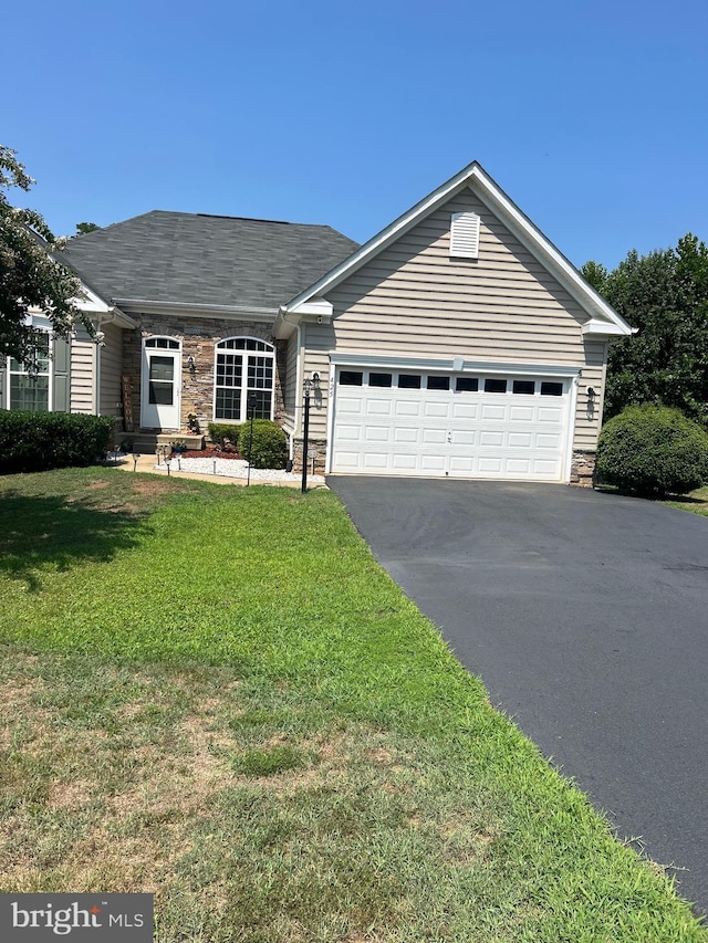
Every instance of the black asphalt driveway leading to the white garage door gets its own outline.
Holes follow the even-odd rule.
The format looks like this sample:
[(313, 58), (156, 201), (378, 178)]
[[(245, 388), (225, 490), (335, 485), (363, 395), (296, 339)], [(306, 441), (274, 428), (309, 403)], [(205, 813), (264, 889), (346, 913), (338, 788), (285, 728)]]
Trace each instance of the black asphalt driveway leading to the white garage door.
[(708, 518), (565, 485), (327, 483), (492, 702), (708, 912)]

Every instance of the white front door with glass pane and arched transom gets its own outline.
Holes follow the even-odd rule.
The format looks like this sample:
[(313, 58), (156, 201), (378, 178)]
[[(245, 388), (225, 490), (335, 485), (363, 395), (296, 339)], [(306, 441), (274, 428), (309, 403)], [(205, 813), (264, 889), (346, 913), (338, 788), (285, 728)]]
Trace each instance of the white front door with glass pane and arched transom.
[(140, 425), (145, 429), (179, 429), (181, 349), (171, 337), (149, 337), (143, 355)]

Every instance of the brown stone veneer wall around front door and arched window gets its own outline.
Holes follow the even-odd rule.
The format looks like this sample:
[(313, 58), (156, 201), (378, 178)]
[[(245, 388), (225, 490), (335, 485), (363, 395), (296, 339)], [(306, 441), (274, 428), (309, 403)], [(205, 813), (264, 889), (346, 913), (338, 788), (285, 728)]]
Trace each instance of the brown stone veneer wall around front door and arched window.
[[(258, 337), (274, 345), (274, 419), (277, 422), (282, 420), (285, 344), (273, 338), (270, 324), (221, 317), (188, 318), (162, 314), (133, 316), (139, 325), (134, 331), (123, 332), (123, 374), (131, 377), (136, 426), (142, 425), (138, 422), (138, 416), (143, 339), (155, 335), (181, 340), (181, 432), (187, 431), (187, 417), (190, 412), (197, 416), (202, 433), (207, 432), (207, 423), (214, 421), (215, 344), (226, 337)], [(194, 374), (187, 366), (190, 356), (195, 358)]]

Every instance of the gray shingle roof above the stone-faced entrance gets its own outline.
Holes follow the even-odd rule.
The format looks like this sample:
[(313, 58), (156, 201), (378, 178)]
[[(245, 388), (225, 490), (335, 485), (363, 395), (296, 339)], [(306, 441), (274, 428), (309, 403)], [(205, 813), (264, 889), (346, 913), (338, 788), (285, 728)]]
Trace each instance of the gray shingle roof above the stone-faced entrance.
[(60, 258), (106, 301), (274, 308), (357, 248), (329, 226), (153, 210), (71, 239)]

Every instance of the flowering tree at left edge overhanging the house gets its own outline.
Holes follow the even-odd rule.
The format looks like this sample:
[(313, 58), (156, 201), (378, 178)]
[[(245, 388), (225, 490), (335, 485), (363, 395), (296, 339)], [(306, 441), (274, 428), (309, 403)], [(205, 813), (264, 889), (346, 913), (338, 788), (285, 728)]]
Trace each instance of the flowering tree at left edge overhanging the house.
[(49, 317), (59, 337), (69, 337), (76, 322), (93, 333), (72, 302), (79, 280), (54, 258), (63, 241), (54, 238), (40, 213), (8, 201), (10, 188), (27, 191), (33, 182), (15, 151), (0, 145), (0, 355), (14, 357), (30, 370), (46, 338), (28, 323), (31, 308)]

